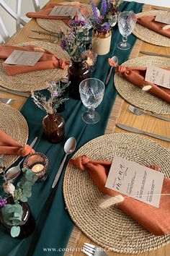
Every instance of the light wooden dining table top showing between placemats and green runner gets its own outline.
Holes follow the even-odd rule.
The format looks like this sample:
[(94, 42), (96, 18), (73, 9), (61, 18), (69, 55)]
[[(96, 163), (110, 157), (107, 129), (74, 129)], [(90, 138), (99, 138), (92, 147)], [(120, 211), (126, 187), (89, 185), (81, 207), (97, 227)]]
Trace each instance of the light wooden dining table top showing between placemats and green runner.
[[(54, 1), (54, 0), (53, 0)], [(89, 1), (84, 2), (88, 3)], [(167, 9), (163, 7), (154, 7), (146, 4), (143, 9), (148, 11), (151, 9)], [(31, 31), (31, 29), (39, 29), (43, 30), (39, 25), (37, 25), (37, 22), (35, 19), (30, 20), (30, 22), (25, 25), (22, 30), (20, 30), (16, 35), (12, 36), (12, 38), (9, 40), (8, 43), (10, 44), (17, 44), (20, 42), (29, 42), (33, 39), (28, 38), (28, 35), (35, 35)], [(36, 39), (35, 39), (36, 40)], [(162, 46), (155, 46), (151, 43), (143, 42), (142, 40), (137, 39), (135, 46), (133, 47), (133, 50), (130, 54), (130, 59), (133, 59), (138, 56), (144, 56), (143, 54), (140, 54), (140, 51), (149, 51), (153, 53), (158, 54), (169, 54), (170, 55), (170, 48), (168, 47), (162, 47)], [(28, 95), (30, 93), (27, 93)], [(5, 93), (0, 91), (0, 97), (1, 98), (15, 98), (16, 100), (14, 103), (11, 104), (13, 108), (20, 109), (22, 108), (25, 101), (27, 101), (27, 98), (24, 98), (22, 96), (13, 95), (11, 93)], [(107, 129), (105, 131), (105, 134), (109, 133), (115, 133), (115, 132), (125, 132), (122, 129), (115, 126), (117, 122), (121, 124), (126, 124), (130, 127), (135, 127), (138, 129), (141, 129), (146, 132), (151, 132), (157, 135), (162, 135), (164, 137), (170, 137), (170, 122), (169, 121), (162, 121), (161, 119), (156, 119), (153, 116), (149, 116), (147, 114), (143, 114), (141, 116), (137, 116), (133, 113), (131, 113), (128, 110), (129, 103), (127, 103), (125, 100), (123, 100), (120, 95), (117, 95), (115, 104), (112, 108), (112, 113), (109, 116), (109, 121), (107, 124)], [(165, 115), (170, 118), (170, 115)], [(146, 135), (140, 135), (143, 137), (146, 137)], [(148, 136), (147, 136), (148, 137)], [(165, 148), (168, 148), (170, 150), (170, 143), (165, 142), (163, 140), (158, 140), (153, 137), (149, 137), (149, 139), (153, 140), (154, 142), (164, 146)], [(170, 161), (170, 159), (167, 159), (167, 161)], [(69, 252), (66, 252), (66, 255), (73, 255), (73, 256), (83, 256), (84, 253), (81, 252), (81, 248), (83, 247), (84, 242), (88, 242), (90, 244), (94, 244), (85, 234), (83, 234), (78, 227), (75, 227), (73, 229), (73, 232), (71, 234), (71, 238), (68, 241), (68, 247), (71, 248)], [(97, 244), (96, 244), (97, 245)], [(109, 256), (122, 256), (124, 254), (117, 253), (117, 252), (109, 252), (106, 251), (107, 255)], [(132, 254), (128, 254), (132, 255)], [(139, 254), (140, 256), (169, 256), (170, 255), (170, 243), (166, 244), (166, 246), (161, 247), (156, 250), (152, 250), (151, 252), (144, 252)]]

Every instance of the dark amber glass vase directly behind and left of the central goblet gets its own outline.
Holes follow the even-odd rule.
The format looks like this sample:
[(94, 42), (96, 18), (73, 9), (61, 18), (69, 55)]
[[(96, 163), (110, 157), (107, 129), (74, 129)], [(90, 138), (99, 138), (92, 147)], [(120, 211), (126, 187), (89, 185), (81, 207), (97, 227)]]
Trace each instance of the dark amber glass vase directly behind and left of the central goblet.
[(71, 65), (68, 67), (68, 81), (71, 82), (69, 85), (69, 96), (76, 100), (80, 100), (79, 85), (81, 81), (90, 77), (90, 70), (86, 67), (85, 61), (71, 60)]

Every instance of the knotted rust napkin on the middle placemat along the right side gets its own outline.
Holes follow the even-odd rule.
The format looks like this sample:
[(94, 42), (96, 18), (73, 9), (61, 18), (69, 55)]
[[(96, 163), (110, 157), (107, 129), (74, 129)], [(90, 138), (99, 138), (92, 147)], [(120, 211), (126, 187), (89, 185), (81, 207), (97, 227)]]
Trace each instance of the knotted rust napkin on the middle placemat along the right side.
[[(163, 98), (165, 101), (170, 103), (170, 90), (166, 88), (159, 87), (154, 85), (152, 82), (146, 82), (146, 67), (124, 67), (119, 66), (112, 61), (112, 59), (108, 59), (111, 67), (116, 67), (116, 72), (120, 73), (130, 82), (133, 82), (134, 85), (137, 85), (139, 88), (143, 88), (146, 85), (151, 85), (150, 93), (157, 95), (159, 98)], [(170, 68), (165, 68), (170, 71)]]

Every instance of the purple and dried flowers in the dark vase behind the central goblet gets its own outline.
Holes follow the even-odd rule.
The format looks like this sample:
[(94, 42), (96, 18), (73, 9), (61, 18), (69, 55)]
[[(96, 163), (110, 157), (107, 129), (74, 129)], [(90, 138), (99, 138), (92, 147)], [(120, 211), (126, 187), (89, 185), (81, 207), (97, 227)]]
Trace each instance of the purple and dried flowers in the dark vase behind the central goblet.
[(61, 30), (61, 48), (67, 51), (74, 61), (81, 60), (81, 54), (85, 51), (84, 39), (82, 37), (83, 27), (86, 25), (86, 20), (71, 20), (71, 29), (66, 33)]

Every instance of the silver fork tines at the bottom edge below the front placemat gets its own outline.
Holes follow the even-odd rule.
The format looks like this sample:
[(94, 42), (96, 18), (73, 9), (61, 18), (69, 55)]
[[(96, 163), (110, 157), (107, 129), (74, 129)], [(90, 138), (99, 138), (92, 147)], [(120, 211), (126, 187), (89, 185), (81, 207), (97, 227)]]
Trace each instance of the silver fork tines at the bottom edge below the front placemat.
[(88, 256), (108, 256), (104, 249), (101, 247), (94, 246), (93, 244), (84, 243), (82, 252)]

